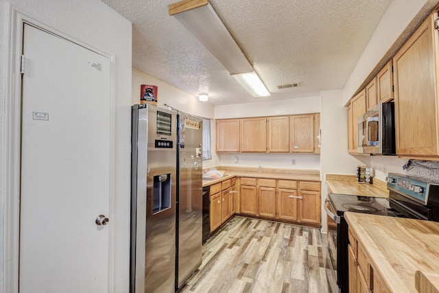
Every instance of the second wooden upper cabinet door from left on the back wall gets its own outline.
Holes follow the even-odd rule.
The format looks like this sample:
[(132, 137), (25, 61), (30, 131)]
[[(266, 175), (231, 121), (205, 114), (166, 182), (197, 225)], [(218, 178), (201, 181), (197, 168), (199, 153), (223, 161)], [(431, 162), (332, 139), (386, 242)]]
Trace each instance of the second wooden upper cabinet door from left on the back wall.
[(241, 119), (241, 152), (267, 152), (267, 118)]

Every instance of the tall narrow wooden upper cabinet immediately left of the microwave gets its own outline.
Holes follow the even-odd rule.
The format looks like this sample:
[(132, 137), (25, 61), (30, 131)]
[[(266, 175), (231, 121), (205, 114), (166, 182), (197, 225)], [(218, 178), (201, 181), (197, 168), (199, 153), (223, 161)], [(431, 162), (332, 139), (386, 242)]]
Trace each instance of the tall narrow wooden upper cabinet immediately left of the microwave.
[[(358, 152), (358, 117), (364, 113), (366, 113), (366, 89), (351, 99), (351, 110), (348, 108), (348, 139), (350, 140), (349, 143), (352, 143), (349, 152), (353, 154)], [(349, 123), (349, 121), (351, 122)]]

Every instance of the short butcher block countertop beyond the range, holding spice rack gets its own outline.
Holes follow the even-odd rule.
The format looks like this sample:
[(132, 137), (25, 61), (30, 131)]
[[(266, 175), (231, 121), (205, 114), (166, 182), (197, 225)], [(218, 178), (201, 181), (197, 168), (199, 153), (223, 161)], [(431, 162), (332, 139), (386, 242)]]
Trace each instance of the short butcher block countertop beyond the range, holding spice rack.
[(388, 198), (389, 191), (384, 181), (373, 178), (373, 184), (357, 182), (355, 175), (327, 174), (326, 182), (331, 194), (350, 194), (353, 196), (373, 196)]

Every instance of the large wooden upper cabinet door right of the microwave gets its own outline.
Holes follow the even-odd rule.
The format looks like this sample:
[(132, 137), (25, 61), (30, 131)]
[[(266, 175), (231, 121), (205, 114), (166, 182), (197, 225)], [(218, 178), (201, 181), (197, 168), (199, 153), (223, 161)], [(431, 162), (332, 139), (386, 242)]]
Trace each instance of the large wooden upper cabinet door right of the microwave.
[(438, 155), (436, 17), (437, 12), (431, 14), (393, 58), (396, 154), (399, 155)]

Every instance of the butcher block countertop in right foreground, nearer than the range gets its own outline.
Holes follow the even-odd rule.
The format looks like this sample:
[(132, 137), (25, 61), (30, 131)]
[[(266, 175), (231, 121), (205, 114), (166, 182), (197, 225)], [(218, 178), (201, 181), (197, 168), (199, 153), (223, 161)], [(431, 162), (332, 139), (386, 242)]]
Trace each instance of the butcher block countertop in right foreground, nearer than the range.
[[(344, 213), (370, 265), (392, 292), (437, 292), (439, 222)], [(424, 276), (417, 276), (416, 271)], [(420, 273), (418, 273), (420, 274)], [(436, 276), (436, 277), (435, 277)], [(415, 285), (416, 284), (416, 285)]]

